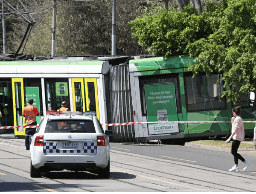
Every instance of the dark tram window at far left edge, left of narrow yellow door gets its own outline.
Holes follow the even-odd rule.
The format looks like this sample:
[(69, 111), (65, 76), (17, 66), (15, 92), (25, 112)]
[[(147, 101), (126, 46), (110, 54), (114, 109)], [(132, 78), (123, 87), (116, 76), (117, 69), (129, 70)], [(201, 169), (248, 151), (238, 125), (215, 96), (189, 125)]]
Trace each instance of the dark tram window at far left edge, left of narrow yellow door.
[(0, 125), (13, 126), (12, 80), (0, 78)]

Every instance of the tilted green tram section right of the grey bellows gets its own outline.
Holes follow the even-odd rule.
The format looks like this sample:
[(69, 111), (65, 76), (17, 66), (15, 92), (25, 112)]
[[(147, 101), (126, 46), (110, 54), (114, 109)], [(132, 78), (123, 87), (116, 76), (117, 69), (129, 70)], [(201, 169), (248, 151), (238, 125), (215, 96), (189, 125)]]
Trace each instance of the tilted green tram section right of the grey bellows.
[[(193, 78), (189, 65), (196, 64), (188, 56), (145, 58), (129, 61), (134, 122), (156, 122), (135, 125), (139, 141), (161, 139), (166, 143), (180, 143), (189, 138), (227, 136), (233, 104), (221, 97), (224, 90), (221, 75), (204, 73)], [(247, 96), (241, 101), (242, 118), (254, 116)], [(169, 124), (167, 121), (209, 122), (205, 124)], [(244, 123), (245, 133), (253, 134), (253, 123)]]

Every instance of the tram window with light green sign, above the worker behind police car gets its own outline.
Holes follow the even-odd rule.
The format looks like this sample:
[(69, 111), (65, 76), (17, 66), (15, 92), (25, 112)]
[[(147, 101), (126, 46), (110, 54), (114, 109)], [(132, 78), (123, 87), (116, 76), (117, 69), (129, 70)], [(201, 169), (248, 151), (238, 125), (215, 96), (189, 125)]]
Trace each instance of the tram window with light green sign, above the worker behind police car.
[(69, 88), (67, 78), (45, 78), (47, 110), (58, 110), (61, 102), (66, 101), (70, 109)]

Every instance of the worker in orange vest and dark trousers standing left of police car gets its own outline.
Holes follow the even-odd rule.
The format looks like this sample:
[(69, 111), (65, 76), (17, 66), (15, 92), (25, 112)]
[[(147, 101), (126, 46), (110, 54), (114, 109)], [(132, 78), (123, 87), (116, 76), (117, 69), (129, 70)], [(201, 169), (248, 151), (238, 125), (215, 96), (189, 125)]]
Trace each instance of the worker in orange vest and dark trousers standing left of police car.
[[(23, 116), (25, 117), (25, 125), (37, 125), (36, 116), (39, 115), (37, 107), (33, 106), (34, 99), (29, 98), (29, 105), (27, 105), (23, 110)], [(26, 128), (25, 130), (25, 146), (26, 150), (29, 150), (30, 145), (30, 133), (35, 131), (36, 128)]]

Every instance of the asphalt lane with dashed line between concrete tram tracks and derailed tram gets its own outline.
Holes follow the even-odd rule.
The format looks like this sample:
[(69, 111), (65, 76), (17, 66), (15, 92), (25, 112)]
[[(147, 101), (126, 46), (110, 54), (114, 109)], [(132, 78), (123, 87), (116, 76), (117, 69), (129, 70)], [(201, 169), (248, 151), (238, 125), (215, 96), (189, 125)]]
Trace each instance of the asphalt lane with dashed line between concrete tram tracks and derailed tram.
[[(213, 151), (198, 149), (180, 145), (154, 145), (141, 144), (132, 145), (125, 143), (112, 143), (112, 150), (119, 150), (127, 153), (137, 153), (145, 156), (152, 156), (159, 159), (185, 162), (187, 164), (202, 165), (209, 168), (227, 171), (234, 165), (233, 155), (224, 151)], [(240, 171), (241, 174), (256, 176), (256, 150), (239, 152), (246, 160), (250, 161), (247, 171)], [(239, 161), (240, 170), (243, 163)]]

